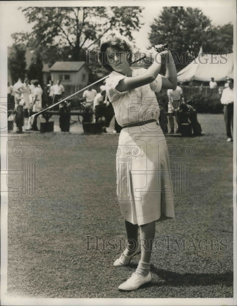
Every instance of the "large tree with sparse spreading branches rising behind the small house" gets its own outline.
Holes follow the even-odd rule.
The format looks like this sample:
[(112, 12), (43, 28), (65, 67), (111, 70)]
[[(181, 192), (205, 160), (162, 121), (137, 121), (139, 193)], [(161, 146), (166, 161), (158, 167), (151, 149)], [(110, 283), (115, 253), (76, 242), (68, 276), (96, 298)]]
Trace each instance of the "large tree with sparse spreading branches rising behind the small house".
[[(39, 46), (45, 62), (85, 60), (85, 49), (98, 47), (101, 40), (117, 30), (132, 39), (139, 30), (142, 8), (126, 7), (27, 7), (19, 8), (31, 33), (14, 33), (16, 43), (34, 49)], [(55, 52), (57, 50), (57, 52)]]

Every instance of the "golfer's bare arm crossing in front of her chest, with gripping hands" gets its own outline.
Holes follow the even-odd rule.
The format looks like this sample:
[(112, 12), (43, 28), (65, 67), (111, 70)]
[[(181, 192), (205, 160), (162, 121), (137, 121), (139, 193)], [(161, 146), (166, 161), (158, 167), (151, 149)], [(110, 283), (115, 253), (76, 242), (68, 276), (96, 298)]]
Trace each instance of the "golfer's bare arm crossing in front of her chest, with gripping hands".
[(148, 50), (147, 54), (155, 59), (153, 64), (145, 71), (145, 73), (138, 76), (126, 77), (121, 80), (116, 86), (117, 91), (123, 92), (153, 82), (160, 72), (160, 67), (163, 60), (162, 55), (165, 53), (167, 53), (167, 51), (163, 51), (161, 54), (154, 48)]

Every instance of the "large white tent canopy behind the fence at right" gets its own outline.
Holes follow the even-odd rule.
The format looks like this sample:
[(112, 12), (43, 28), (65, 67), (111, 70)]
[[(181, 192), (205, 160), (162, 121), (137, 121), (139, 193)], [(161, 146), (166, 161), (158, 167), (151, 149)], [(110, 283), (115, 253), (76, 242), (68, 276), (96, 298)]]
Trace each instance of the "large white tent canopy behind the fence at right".
[(234, 78), (234, 54), (205, 54), (200, 53), (189, 65), (177, 73), (178, 82), (191, 80), (209, 82), (224, 81), (228, 76)]

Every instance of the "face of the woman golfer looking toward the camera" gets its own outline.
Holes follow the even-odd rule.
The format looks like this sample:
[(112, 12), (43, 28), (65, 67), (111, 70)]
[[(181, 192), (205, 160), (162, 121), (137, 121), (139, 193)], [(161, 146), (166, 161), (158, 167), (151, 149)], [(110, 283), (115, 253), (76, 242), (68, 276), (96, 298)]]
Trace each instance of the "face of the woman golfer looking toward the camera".
[(127, 52), (119, 50), (118, 48), (106, 49), (107, 63), (111, 68), (117, 72), (123, 72), (129, 66), (127, 61)]

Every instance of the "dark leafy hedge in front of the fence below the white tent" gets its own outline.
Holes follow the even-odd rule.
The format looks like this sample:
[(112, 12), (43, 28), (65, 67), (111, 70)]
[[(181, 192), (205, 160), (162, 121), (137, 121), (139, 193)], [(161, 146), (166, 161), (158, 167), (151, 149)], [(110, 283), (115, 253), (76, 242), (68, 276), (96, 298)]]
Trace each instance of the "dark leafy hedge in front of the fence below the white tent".
[(186, 100), (197, 113), (221, 114), (223, 113), (223, 105), (221, 104), (220, 95), (204, 96), (202, 94), (191, 95)]

